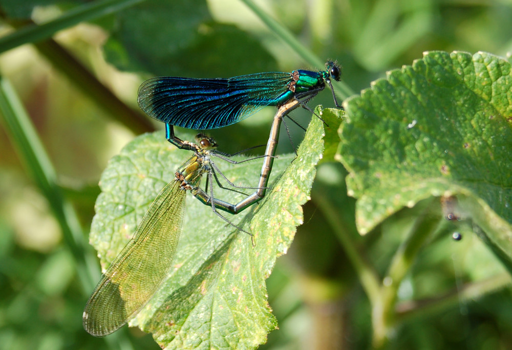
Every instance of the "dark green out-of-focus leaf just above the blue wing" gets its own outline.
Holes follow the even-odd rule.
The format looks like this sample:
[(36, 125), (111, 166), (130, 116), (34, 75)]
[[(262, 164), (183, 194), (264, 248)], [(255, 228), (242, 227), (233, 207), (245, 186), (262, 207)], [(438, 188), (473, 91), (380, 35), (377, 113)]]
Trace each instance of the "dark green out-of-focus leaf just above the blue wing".
[(106, 59), (128, 71), (213, 77), (275, 69), (259, 41), (213, 21), (203, 0), (148, 0), (117, 14), (111, 32)]

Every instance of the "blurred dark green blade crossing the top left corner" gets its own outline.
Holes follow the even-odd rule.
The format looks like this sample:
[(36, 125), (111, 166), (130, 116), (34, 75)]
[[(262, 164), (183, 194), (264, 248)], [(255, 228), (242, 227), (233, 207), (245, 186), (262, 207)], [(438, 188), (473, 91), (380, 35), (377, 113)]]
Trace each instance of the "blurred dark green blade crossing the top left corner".
[(59, 30), (77, 25), (80, 22), (96, 19), (141, 3), (144, 0), (104, 0), (86, 3), (62, 16), (42, 25), (30, 25), (0, 38), (0, 53), (29, 42), (50, 38)]

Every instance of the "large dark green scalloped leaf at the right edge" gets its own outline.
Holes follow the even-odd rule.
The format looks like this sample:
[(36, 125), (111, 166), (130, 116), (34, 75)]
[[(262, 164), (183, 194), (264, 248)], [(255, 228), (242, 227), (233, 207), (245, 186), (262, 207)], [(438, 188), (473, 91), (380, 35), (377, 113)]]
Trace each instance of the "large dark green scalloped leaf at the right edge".
[(511, 266), (511, 73), (490, 54), (430, 52), (345, 102), (339, 159), (360, 232), (455, 195)]

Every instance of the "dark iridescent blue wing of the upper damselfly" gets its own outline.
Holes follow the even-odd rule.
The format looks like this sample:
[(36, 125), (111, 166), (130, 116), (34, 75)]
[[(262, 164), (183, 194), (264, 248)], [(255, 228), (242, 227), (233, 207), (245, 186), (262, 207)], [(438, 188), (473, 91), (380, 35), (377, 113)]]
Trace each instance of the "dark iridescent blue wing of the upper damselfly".
[(140, 108), (152, 118), (189, 129), (216, 129), (240, 122), (265, 106), (288, 100), (290, 73), (233, 78), (157, 77), (139, 87)]

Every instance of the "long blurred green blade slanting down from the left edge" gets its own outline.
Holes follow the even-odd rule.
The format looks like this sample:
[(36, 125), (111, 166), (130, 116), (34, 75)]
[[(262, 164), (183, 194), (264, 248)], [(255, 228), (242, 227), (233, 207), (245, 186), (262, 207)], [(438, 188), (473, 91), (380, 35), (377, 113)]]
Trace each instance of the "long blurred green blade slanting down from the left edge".
[(0, 76), (0, 111), (7, 133), (17, 153), (31, 173), (41, 193), (47, 198), (63, 238), (71, 250), (84, 294), (89, 294), (99, 279), (98, 265), (92, 251), (86, 251), (77, 215), (57, 185), (51, 161), (37, 136), (27, 112), (10, 82)]

